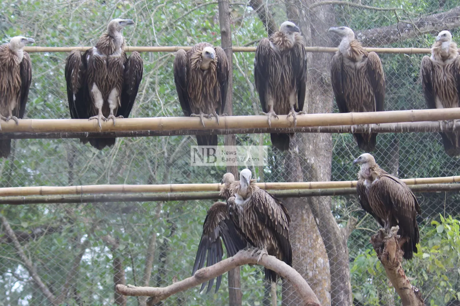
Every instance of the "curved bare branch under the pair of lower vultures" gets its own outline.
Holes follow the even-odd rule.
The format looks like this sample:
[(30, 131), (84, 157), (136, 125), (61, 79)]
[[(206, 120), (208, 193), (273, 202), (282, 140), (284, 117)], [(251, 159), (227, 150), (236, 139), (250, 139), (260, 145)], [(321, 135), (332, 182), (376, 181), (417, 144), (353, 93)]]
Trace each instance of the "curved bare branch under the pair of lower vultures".
[[(259, 256), (257, 254), (251, 256), (250, 250), (241, 250), (236, 253), (235, 256), (220, 261), (211, 267), (204, 267), (196, 271), (194, 276), (185, 278), (184, 280), (171, 284), (167, 287), (159, 288), (117, 285), (116, 289), (123, 295), (151, 296), (148, 305), (153, 305), (154, 303), (164, 300), (173, 294), (200, 285), (211, 278), (216, 278), (235, 267), (249, 263), (257, 264), (258, 257)], [(305, 306), (320, 306), (318, 298), (313, 293), (305, 279), (285, 262), (278, 260), (275, 256), (262, 256), (259, 264), (275, 271), (292, 284), (299, 293), (299, 296), (305, 302)]]

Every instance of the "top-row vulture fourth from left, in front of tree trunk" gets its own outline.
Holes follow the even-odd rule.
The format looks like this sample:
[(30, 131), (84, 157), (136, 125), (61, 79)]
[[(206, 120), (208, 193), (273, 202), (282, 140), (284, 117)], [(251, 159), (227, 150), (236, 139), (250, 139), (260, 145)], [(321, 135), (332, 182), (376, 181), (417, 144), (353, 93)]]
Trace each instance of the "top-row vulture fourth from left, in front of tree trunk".
[[(280, 30), (270, 38), (260, 40), (254, 58), (254, 79), (263, 114), (293, 116), (304, 114), (307, 81), (307, 54), (300, 29), (293, 22), (285, 21)], [(293, 133), (271, 133), (272, 145), (278, 150), (289, 149)]]

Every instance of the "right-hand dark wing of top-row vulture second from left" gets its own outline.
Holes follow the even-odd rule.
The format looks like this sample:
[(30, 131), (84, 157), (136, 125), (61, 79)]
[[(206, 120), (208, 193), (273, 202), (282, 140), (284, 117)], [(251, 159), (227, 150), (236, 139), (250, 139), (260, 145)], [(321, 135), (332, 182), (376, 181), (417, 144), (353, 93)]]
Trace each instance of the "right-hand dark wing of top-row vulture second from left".
[(120, 107), (116, 116), (127, 118), (132, 110), (136, 96), (138, 95), (139, 84), (142, 80), (144, 65), (139, 52), (132, 52), (131, 56), (125, 63), (125, 72), (123, 76), (123, 87), (121, 89)]

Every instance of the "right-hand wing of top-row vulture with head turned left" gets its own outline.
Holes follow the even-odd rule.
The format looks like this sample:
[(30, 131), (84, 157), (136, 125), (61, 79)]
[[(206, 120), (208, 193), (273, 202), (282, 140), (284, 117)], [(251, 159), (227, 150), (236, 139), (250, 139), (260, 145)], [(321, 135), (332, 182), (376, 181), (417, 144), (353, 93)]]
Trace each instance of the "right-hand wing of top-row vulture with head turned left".
[(367, 66), (369, 80), (372, 89), (374, 89), (375, 111), (383, 111), (385, 106), (385, 74), (377, 53), (369, 52)]

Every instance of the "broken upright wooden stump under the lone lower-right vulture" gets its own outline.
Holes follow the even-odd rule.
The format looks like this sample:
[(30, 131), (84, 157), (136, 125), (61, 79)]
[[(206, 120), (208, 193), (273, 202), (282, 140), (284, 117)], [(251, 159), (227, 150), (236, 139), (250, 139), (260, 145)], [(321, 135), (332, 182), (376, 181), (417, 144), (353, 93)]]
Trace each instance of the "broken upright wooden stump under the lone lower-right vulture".
[(403, 241), (401, 236), (397, 235), (398, 230), (399, 226), (395, 226), (386, 234), (385, 229), (380, 228), (377, 234), (371, 237), (372, 246), (391, 284), (401, 297), (403, 306), (424, 306), (420, 290), (410, 284), (401, 266), (404, 252), (401, 250)]

